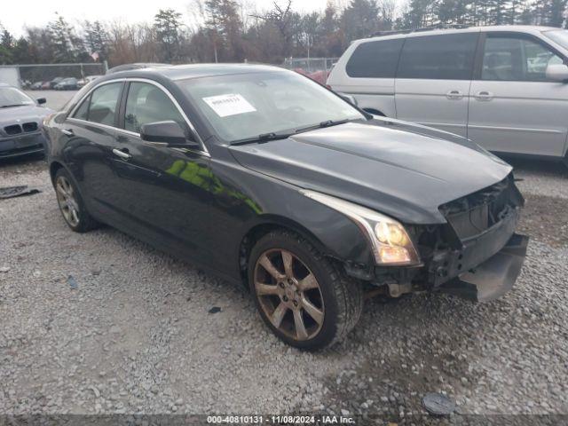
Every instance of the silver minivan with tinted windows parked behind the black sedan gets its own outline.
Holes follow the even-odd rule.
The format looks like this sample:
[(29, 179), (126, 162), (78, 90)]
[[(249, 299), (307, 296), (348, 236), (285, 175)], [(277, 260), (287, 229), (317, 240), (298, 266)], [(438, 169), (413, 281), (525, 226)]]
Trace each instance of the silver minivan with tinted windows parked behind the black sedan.
[(358, 40), (327, 79), (367, 112), (566, 161), (568, 31), (502, 26)]

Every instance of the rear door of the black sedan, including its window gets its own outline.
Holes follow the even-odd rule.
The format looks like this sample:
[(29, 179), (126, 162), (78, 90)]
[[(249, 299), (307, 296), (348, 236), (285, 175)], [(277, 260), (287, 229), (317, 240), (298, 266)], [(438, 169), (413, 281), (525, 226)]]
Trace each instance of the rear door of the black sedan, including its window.
[(67, 138), (64, 154), (88, 208), (108, 222), (121, 219), (112, 191), (116, 183), (109, 161), (116, 143), (116, 125), (123, 82), (103, 83), (91, 91), (61, 124)]

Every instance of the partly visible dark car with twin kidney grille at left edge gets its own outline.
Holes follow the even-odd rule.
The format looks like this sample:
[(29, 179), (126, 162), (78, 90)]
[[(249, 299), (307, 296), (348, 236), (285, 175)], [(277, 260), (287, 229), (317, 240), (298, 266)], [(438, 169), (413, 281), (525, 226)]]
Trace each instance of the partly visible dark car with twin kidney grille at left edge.
[(26, 93), (0, 83), (0, 159), (44, 151), (43, 119), (51, 109), (44, 98), (31, 99)]

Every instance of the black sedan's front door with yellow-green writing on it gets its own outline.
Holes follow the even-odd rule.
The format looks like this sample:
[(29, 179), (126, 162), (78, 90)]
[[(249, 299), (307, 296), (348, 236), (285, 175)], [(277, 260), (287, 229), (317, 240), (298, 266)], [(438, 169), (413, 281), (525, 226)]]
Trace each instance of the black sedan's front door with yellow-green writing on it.
[(212, 174), (209, 154), (144, 142), (140, 127), (173, 120), (188, 123), (175, 100), (160, 85), (130, 82), (122, 100), (113, 166), (118, 177), (114, 191), (130, 231), (155, 245), (209, 264), (204, 241)]

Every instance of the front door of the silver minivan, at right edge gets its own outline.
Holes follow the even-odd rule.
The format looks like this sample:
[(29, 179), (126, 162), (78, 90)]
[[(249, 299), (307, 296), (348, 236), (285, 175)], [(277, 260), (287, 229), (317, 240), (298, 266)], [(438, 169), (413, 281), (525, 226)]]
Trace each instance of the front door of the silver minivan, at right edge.
[(469, 96), (469, 138), (497, 152), (563, 155), (568, 85), (549, 81), (546, 69), (565, 59), (526, 34), (496, 32), (483, 39)]

